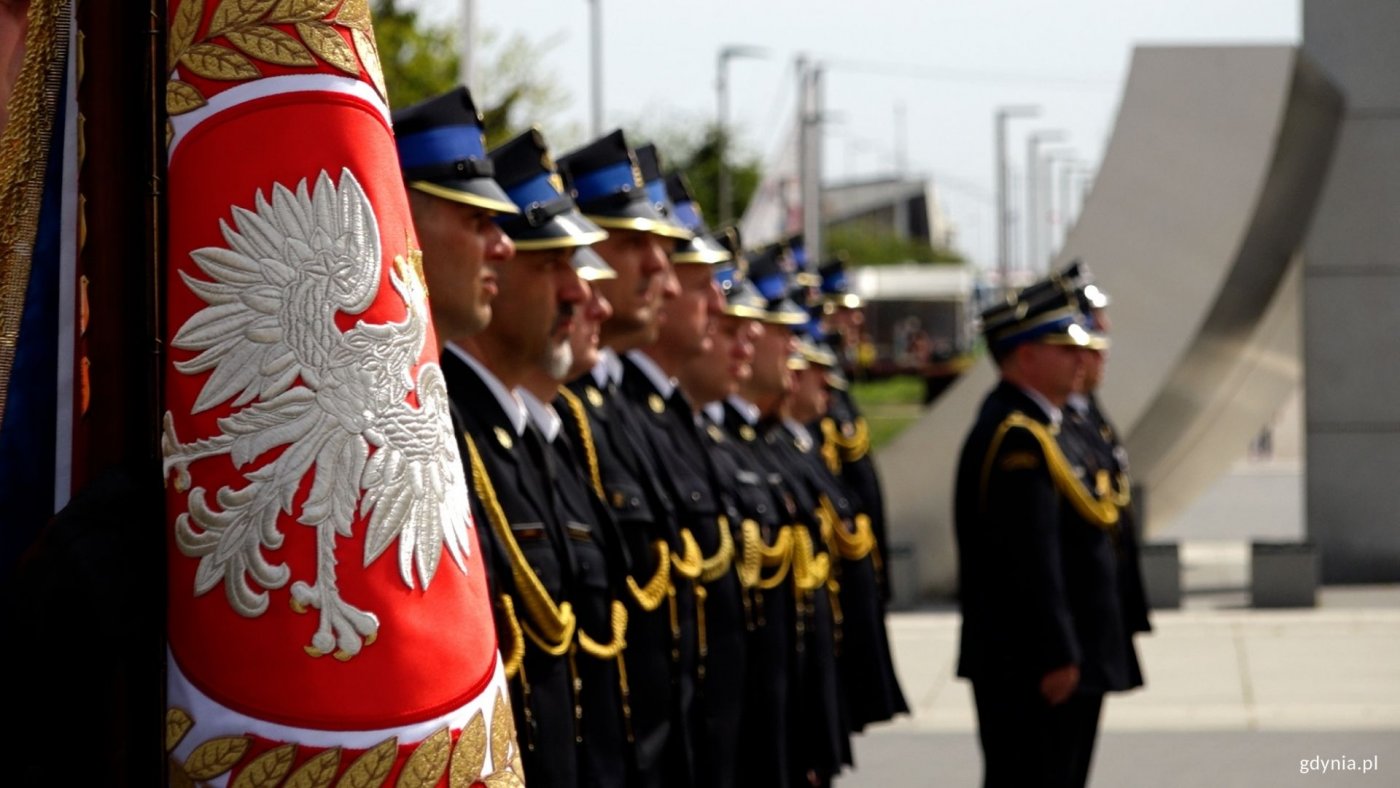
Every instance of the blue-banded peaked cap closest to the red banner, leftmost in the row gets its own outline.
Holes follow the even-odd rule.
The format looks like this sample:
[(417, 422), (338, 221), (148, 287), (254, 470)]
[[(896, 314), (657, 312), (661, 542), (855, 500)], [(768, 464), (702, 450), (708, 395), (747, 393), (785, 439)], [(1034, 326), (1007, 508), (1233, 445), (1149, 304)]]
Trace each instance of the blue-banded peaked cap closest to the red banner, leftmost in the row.
[(518, 213), (494, 179), (482, 113), (465, 87), (395, 112), (393, 136), (410, 189), (497, 213)]

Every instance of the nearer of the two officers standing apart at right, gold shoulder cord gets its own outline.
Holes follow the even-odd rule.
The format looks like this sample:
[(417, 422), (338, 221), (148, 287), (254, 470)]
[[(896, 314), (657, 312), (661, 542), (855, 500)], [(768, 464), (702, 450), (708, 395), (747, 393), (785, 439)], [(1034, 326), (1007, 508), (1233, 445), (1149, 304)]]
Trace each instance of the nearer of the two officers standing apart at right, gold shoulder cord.
[(955, 501), (962, 644), (986, 785), (1084, 785), (1103, 693), (1135, 662), (1119, 596), (1119, 511), (1056, 434), (1093, 340), (1046, 280), (983, 315), (1001, 381), (963, 445)]

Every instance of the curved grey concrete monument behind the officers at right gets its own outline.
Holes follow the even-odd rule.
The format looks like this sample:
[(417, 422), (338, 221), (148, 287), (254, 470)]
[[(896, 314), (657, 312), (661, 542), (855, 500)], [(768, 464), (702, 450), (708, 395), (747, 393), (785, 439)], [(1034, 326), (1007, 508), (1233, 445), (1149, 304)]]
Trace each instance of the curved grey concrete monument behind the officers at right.
[[(1142, 48), (1061, 260), (1113, 297), (1103, 399), (1148, 491), (1148, 529), (1243, 452), (1298, 381), (1296, 277), (1341, 99), (1295, 48)], [(1294, 284), (1287, 284), (1292, 281)], [(981, 361), (881, 456), (892, 537), (920, 585), (956, 585), (952, 481), (994, 382)]]

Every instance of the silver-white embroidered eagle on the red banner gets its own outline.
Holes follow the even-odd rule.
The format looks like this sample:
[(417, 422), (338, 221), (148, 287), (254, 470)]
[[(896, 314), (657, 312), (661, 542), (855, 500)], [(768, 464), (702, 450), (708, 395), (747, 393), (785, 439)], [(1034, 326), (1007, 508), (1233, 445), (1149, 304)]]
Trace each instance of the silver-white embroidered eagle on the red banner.
[[(228, 455), (234, 467), (277, 449), (276, 459), (244, 473), (246, 484), (225, 486), (210, 501), (189, 491), (189, 511), (175, 521), (181, 553), (199, 558), (195, 593), (224, 584), (228, 603), (256, 617), (267, 610), (267, 589), (287, 584), (287, 564), (265, 550), (283, 543), (281, 512), (308, 473), (309, 495), (297, 522), (316, 529), (315, 582), (291, 584), (297, 612), (319, 610), (307, 652), (335, 651), (349, 659), (374, 642), (379, 621), (340, 598), (336, 536), (350, 537), (357, 515), (368, 515), (364, 565), (399, 540), (399, 575), (427, 589), (442, 549), (466, 571), (470, 509), (454, 441), (447, 384), (437, 364), (419, 367), (428, 311), (413, 263), (395, 258), (389, 272), (407, 316), (399, 323), (357, 321), (340, 330), (337, 314), (364, 312), (379, 293), (379, 230), (372, 206), (349, 169), (332, 183), (322, 171), (291, 192), (276, 183), (269, 203), (259, 190), (255, 210), (232, 209), (234, 227), (220, 220), (227, 248), (190, 253), (210, 280), (181, 272), (207, 305), (175, 333), (172, 344), (199, 351), (175, 370), (210, 372), (192, 409), (228, 402), (220, 434), (183, 444), (165, 413), (161, 448), (167, 477), (189, 488), (189, 465)], [(416, 252), (413, 253), (416, 255)], [(407, 397), (417, 395), (417, 407)], [(361, 494), (363, 493), (363, 494)]]

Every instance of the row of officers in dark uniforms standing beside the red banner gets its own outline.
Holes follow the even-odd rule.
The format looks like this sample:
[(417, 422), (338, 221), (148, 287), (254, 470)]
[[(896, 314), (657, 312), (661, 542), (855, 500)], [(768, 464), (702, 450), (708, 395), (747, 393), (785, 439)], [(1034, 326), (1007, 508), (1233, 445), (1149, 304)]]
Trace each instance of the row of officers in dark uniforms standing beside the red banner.
[(487, 153), (465, 88), (393, 126), (526, 780), (827, 784), (907, 711), (840, 266), (622, 132)]

